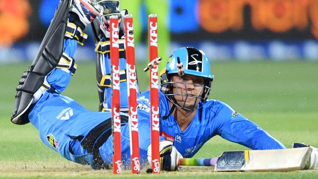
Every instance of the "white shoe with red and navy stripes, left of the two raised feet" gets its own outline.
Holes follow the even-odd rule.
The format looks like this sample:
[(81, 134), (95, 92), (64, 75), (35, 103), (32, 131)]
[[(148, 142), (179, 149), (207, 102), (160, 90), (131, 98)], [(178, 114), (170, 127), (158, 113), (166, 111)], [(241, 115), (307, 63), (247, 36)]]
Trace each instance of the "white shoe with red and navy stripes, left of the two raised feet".
[[(100, 6), (96, 3), (96, 0), (72, 0), (72, 4), (69, 9), (70, 16), (72, 18), (72, 13), (75, 13), (79, 21), (78, 24), (82, 30), (90, 24), (97, 16), (100, 15)], [(73, 18), (74, 19), (74, 18)]]

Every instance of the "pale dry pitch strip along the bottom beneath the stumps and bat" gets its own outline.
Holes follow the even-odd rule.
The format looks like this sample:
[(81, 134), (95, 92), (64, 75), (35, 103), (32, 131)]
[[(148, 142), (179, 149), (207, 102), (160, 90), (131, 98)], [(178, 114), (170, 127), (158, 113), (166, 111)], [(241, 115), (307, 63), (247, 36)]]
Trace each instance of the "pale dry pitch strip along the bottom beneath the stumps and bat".
[(114, 175), (112, 170), (92, 170), (88, 165), (69, 161), (62, 162), (0, 162), (0, 178), (196, 178), (196, 179), (313, 179), (318, 177), (318, 169), (295, 172), (214, 172), (214, 167), (182, 167), (178, 172), (147, 174), (146, 168), (141, 174), (133, 175), (124, 170), (121, 175)]

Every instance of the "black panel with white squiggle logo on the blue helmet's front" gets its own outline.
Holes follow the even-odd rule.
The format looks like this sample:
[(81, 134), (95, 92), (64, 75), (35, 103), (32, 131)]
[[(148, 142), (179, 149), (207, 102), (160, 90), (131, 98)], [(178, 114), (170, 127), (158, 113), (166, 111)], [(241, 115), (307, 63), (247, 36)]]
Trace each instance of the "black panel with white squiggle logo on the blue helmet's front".
[(202, 72), (202, 53), (197, 53), (196, 50), (188, 48), (188, 64), (187, 69), (192, 69)]

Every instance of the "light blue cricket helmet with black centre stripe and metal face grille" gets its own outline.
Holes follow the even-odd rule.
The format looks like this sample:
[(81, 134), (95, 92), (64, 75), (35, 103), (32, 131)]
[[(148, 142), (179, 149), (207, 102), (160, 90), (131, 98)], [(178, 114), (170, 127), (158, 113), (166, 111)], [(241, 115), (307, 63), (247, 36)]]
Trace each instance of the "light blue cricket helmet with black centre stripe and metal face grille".
[[(179, 61), (179, 62), (178, 62)], [(201, 96), (192, 96), (200, 98), (204, 103), (209, 95), (211, 90), (211, 83), (214, 79), (214, 75), (210, 73), (210, 62), (207, 59), (205, 53), (202, 50), (198, 50), (193, 47), (182, 47), (173, 52), (169, 57), (169, 60), (166, 64), (166, 68), (163, 69), (160, 73), (161, 79), (161, 91), (167, 96), (167, 98), (176, 106), (181, 107), (185, 110), (196, 110), (196, 109), (186, 109), (184, 104), (178, 104), (174, 100), (175, 95), (172, 93), (172, 82), (170, 77), (173, 74), (178, 74), (177, 64), (182, 63), (184, 74), (200, 76), (204, 78), (203, 93)]]

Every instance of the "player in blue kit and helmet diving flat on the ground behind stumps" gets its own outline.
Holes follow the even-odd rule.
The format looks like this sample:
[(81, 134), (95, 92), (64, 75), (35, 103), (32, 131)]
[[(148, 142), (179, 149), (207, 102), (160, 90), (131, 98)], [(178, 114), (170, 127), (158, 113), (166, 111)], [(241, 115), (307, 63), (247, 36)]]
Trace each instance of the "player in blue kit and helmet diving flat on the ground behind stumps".
[[(39, 130), (45, 145), (68, 160), (90, 164), (93, 169), (109, 169), (113, 156), (111, 112), (88, 111), (61, 94), (76, 69), (73, 56), (77, 43), (82, 44), (81, 37), (85, 37), (82, 29), (100, 16), (100, 9), (92, 0), (73, 0), (70, 6), (68, 3), (69, 0), (61, 0), (38, 56), (23, 73), (11, 121), (19, 125), (31, 122)], [(122, 59), (121, 63), (125, 63)], [(183, 71), (178, 68), (181, 63)], [(178, 170), (178, 158), (193, 157), (215, 135), (250, 149), (285, 148), (227, 104), (207, 100), (213, 78), (207, 57), (195, 48), (177, 49), (166, 64), (159, 90), (161, 170)], [(149, 97), (149, 91), (146, 91), (137, 98), (142, 166), (151, 158)], [(128, 115), (120, 114), (122, 162), (129, 166)], [(164, 150), (167, 148), (170, 150)]]

